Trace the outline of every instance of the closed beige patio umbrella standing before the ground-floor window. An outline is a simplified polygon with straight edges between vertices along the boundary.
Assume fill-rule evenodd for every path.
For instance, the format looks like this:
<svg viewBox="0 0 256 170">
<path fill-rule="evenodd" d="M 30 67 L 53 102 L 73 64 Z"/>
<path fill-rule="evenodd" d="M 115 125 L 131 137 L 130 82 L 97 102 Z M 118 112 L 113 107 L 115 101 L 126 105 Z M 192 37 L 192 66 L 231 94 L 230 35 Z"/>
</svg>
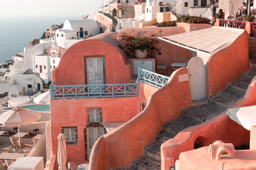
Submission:
<svg viewBox="0 0 256 170">
<path fill-rule="evenodd" d="M 58 147 L 58 163 L 59 163 L 59 170 L 67 170 L 66 168 L 66 161 L 67 161 L 67 154 L 66 154 L 66 136 L 63 133 L 58 135 L 59 139 L 59 147 Z"/>
</svg>

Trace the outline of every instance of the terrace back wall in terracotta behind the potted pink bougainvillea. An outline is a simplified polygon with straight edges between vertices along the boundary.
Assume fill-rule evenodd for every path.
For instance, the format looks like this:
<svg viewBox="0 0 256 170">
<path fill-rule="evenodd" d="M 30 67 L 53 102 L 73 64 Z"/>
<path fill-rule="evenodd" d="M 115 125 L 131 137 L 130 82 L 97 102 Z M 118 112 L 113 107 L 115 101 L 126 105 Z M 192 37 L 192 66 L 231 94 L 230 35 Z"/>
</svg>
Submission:
<svg viewBox="0 0 256 170">
<path fill-rule="evenodd" d="M 157 37 L 165 37 L 165 36 L 171 36 L 175 34 L 181 34 L 181 33 L 186 33 L 186 30 L 183 27 L 149 27 L 149 28 L 135 28 L 135 31 L 131 33 L 131 35 L 137 35 L 138 33 L 143 33 L 145 35 L 151 35 L 151 34 L 156 34 L 159 32 L 159 30 L 162 30 L 160 34 L 158 34 L 154 39 L 158 40 L 159 43 L 156 44 L 155 46 L 158 48 L 161 48 L 161 55 L 158 55 L 158 53 L 155 53 L 155 61 L 156 65 L 167 65 L 167 70 L 170 73 L 173 70 L 173 67 L 171 66 L 172 63 L 174 63 L 177 59 L 179 58 L 186 58 L 187 60 L 190 60 L 192 58 L 192 51 L 179 47 L 177 45 L 159 40 Z M 123 32 L 125 33 L 130 33 L 134 29 L 122 29 L 120 30 L 118 34 L 118 39 L 117 41 L 120 42 L 120 44 L 124 47 L 125 46 L 125 41 L 121 39 L 121 36 Z M 146 31 L 145 31 L 146 30 Z M 163 45 L 166 45 L 163 46 Z M 149 53 L 151 54 L 151 52 Z M 131 56 L 134 56 L 132 54 Z M 165 73 L 165 70 L 159 70 L 159 72 Z"/>
</svg>

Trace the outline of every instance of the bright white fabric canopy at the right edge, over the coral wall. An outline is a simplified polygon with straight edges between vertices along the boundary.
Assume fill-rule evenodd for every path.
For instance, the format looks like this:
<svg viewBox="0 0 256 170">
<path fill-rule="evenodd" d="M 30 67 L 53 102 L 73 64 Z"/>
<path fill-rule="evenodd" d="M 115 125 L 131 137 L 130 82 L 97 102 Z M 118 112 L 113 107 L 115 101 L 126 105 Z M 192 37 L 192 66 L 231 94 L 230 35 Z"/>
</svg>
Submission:
<svg viewBox="0 0 256 170">
<path fill-rule="evenodd" d="M 226 114 L 247 130 L 251 130 L 251 126 L 256 125 L 256 105 L 228 109 Z"/>
</svg>

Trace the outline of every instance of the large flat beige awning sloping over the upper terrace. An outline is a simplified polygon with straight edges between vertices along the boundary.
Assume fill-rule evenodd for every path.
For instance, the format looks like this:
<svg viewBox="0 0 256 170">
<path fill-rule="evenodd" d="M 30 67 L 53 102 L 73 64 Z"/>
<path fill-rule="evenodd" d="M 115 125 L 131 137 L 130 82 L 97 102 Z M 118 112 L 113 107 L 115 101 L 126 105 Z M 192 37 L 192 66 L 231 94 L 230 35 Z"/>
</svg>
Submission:
<svg viewBox="0 0 256 170">
<path fill-rule="evenodd" d="M 210 27 L 162 38 L 158 37 L 158 39 L 199 53 L 211 55 L 216 50 L 228 46 L 244 31 L 243 29 L 227 27 Z"/>
</svg>

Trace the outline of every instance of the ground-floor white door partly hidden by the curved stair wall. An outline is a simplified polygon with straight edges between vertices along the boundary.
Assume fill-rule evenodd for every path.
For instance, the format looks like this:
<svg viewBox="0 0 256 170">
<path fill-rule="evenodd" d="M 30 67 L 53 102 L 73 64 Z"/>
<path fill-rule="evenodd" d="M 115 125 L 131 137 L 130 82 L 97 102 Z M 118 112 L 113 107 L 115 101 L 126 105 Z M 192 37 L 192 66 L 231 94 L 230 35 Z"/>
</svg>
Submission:
<svg viewBox="0 0 256 170">
<path fill-rule="evenodd" d="M 88 160 L 89 160 L 94 143 L 100 136 L 104 135 L 104 128 L 86 128 L 86 133 L 87 133 L 87 153 L 88 153 Z"/>
</svg>

